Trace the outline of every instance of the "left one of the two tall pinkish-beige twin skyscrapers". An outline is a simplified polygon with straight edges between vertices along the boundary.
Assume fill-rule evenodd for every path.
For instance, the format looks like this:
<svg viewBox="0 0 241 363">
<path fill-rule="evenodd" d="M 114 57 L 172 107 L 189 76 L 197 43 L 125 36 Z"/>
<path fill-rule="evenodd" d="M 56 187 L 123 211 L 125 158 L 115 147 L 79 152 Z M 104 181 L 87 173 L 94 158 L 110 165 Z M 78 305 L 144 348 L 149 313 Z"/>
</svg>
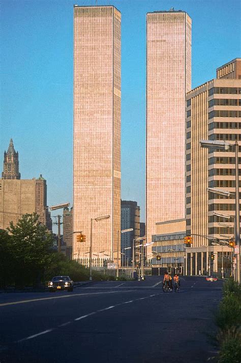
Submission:
<svg viewBox="0 0 241 363">
<path fill-rule="evenodd" d="M 74 231 L 73 258 L 113 257 L 120 245 L 120 23 L 113 6 L 74 6 Z M 119 248 L 120 250 L 120 248 Z M 117 254 L 114 254 L 114 258 Z M 120 258 L 119 258 L 120 261 Z"/>
</svg>

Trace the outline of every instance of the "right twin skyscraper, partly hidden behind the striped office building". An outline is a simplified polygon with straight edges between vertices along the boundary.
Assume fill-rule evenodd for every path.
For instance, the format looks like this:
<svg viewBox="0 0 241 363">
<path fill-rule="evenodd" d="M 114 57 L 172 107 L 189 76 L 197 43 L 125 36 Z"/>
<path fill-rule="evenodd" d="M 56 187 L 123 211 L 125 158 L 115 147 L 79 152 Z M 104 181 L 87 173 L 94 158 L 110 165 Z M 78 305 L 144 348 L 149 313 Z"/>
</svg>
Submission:
<svg viewBox="0 0 241 363">
<path fill-rule="evenodd" d="M 191 90 L 191 27 L 191 18 L 183 11 L 146 16 L 147 242 L 156 235 L 156 222 L 185 217 L 185 96 Z"/>
</svg>

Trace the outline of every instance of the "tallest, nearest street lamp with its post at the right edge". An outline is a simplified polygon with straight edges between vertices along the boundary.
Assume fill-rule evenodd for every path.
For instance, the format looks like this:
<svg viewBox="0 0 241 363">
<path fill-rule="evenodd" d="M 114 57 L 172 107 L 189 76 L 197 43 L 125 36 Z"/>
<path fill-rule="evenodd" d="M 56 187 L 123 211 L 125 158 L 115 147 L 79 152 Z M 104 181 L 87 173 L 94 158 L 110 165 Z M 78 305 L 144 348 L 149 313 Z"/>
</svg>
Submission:
<svg viewBox="0 0 241 363">
<path fill-rule="evenodd" d="M 200 140 L 201 147 L 216 150 L 229 150 L 230 144 L 222 141 Z M 238 177 L 238 142 L 235 141 L 235 245 L 238 248 L 236 256 L 237 282 L 240 283 L 240 215 L 239 215 L 239 177 Z"/>
</svg>

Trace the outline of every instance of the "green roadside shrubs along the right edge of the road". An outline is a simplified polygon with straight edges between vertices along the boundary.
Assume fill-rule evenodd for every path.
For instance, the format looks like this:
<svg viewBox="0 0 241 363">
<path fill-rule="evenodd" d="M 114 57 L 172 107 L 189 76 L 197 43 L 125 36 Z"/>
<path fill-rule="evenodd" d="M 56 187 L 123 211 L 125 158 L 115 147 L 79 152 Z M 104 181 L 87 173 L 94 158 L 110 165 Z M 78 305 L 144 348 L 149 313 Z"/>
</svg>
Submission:
<svg viewBox="0 0 241 363">
<path fill-rule="evenodd" d="M 241 362 L 241 286 L 230 278 L 224 283 L 223 299 L 215 316 L 219 328 L 218 363 Z"/>
</svg>

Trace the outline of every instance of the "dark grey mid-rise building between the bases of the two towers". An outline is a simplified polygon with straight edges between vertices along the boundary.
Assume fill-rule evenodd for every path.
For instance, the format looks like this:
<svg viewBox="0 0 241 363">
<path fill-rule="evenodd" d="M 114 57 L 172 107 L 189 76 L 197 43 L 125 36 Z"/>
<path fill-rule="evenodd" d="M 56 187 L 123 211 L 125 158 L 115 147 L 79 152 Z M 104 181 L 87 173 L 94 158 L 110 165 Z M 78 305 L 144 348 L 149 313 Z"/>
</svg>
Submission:
<svg viewBox="0 0 241 363">
<path fill-rule="evenodd" d="M 131 265 L 132 254 L 133 254 L 133 239 L 134 246 L 136 244 L 136 238 L 140 237 L 140 207 L 137 205 L 137 202 L 133 201 L 122 201 L 122 219 L 121 226 L 122 230 L 126 230 L 129 228 L 133 228 L 132 232 L 122 233 L 121 237 L 121 249 L 122 253 L 122 261 L 124 266 Z M 129 249 L 125 249 L 131 247 Z M 137 256 L 136 256 L 137 257 Z"/>
</svg>

